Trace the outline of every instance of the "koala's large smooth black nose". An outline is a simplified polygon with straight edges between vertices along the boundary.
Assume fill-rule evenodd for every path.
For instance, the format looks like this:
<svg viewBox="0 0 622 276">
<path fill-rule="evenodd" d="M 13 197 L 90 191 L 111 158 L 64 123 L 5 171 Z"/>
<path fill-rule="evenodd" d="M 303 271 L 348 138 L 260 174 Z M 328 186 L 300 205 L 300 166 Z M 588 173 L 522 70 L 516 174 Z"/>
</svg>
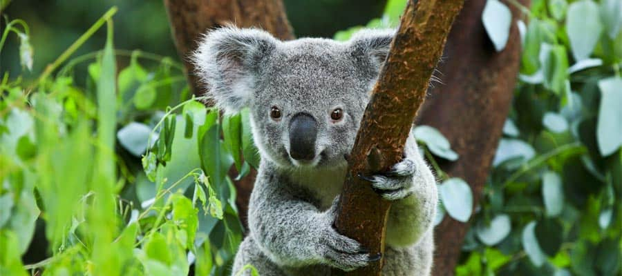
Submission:
<svg viewBox="0 0 622 276">
<path fill-rule="evenodd" d="M 310 161 L 315 157 L 317 122 L 307 113 L 297 113 L 290 121 L 290 156 Z"/>
</svg>

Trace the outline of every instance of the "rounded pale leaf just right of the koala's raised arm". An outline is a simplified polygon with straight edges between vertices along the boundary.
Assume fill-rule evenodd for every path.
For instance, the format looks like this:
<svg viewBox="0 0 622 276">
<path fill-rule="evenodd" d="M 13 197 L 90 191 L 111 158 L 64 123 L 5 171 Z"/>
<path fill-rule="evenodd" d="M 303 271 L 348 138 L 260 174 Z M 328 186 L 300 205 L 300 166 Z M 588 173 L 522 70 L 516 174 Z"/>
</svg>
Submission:
<svg viewBox="0 0 622 276">
<path fill-rule="evenodd" d="M 469 184 L 460 178 L 450 178 L 443 181 L 438 190 L 449 216 L 458 221 L 469 221 L 473 211 L 473 193 Z"/>
</svg>

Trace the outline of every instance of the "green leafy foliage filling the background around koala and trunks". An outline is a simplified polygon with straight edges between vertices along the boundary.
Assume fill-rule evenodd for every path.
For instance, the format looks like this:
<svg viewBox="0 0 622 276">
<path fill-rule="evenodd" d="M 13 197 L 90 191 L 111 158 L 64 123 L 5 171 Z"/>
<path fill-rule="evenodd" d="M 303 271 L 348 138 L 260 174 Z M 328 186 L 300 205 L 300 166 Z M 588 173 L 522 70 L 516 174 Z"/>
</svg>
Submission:
<svg viewBox="0 0 622 276">
<path fill-rule="evenodd" d="M 395 24 L 405 3 L 320 2 L 285 1 L 296 34 L 347 39 Z M 489 0 L 482 14 L 497 50 L 508 5 Z M 520 83 L 474 214 L 469 186 L 435 166 L 437 221 L 473 219 L 456 273 L 620 275 L 622 3 L 522 9 Z M 245 112 L 221 117 L 189 95 L 161 1 L 15 1 L 3 13 L 0 275 L 227 275 L 243 237 L 227 172 L 244 177 L 258 157 Z M 317 14 L 327 23 L 308 23 Z M 433 165 L 460 158 L 433 128 L 417 139 Z"/>
</svg>

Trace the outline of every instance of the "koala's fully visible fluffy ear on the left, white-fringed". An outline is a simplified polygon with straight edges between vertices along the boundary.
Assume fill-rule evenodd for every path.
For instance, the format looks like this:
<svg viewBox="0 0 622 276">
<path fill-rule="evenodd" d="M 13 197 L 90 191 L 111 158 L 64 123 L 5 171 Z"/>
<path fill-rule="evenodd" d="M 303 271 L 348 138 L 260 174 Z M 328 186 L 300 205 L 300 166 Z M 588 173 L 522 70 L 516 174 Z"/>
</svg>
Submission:
<svg viewBox="0 0 622 276">
<path fill-rule="evenodd" d="M 249 105 L 261 61 L 277 43 L 263 30 L 231 26 L 203 36 L 192 61 L 216 106 L 237 112 Z"/>
</svg>

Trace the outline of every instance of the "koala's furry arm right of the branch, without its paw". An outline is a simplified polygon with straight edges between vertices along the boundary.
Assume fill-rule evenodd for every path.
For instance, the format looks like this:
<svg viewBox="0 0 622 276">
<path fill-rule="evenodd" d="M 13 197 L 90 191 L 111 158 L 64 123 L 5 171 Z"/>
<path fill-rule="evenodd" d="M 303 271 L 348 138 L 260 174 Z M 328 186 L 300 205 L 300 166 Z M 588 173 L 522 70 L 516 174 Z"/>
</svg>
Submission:
<svg viewBox="0 0 622 276">
<path fill-rule="evenodd" d="M 435 177 L 420 155 L 412 131 L 406 141 L 404 155 L 415 164 L 415 173 L 411 195 L 391 205 L 386 244 L 393 248 L 415 244 L 432 230 L 438 202 Z"/>
</svg>

